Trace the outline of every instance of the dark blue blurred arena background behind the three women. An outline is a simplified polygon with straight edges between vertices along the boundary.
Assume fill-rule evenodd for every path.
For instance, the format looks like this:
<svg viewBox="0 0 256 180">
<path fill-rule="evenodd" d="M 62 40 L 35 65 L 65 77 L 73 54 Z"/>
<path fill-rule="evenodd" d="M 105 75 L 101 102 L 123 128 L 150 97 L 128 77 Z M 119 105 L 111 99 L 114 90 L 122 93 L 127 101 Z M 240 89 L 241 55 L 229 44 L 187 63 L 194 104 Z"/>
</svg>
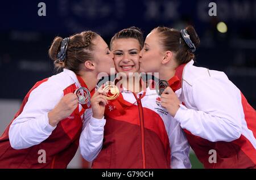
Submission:
<svg viewBox="0 0 256 180">
<path fill-rule="evenodd" d="M 40 2 L 46 16 L 38 15 Z M 217 16 L 209 16 L 210 2 L 216 3 Z M 48 58 L 53 38 L 85 30 L 109 42 L 130 26 L 146 37 L 158 25 L 194 25 L 201 39 L 196 65 L 224 71 L 256 108 L 256 1 L 1 1 L 0 15 L 0 134 L 32 85 L 55 74 Z M 220 22 L 225 33 L 217 29 Z"/>
</svg>

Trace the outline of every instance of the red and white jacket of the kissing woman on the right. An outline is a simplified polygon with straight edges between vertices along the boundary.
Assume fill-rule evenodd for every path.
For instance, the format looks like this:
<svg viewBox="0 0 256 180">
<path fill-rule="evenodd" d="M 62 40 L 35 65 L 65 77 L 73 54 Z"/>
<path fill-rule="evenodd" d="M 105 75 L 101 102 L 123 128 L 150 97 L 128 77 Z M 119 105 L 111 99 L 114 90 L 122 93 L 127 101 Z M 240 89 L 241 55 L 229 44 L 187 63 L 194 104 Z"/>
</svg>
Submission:
<svg viewBox="0 0 256 180">
<path fill-rule="evenodd" d="M 179 66 L 176 76 L 182 83 L 175 93 L 184 105 L 174 118 L 204 167 L 255 168 L 256 112 L 236 85 L 224 72 L 193 66 L 193 60 Z"/>
</svg>

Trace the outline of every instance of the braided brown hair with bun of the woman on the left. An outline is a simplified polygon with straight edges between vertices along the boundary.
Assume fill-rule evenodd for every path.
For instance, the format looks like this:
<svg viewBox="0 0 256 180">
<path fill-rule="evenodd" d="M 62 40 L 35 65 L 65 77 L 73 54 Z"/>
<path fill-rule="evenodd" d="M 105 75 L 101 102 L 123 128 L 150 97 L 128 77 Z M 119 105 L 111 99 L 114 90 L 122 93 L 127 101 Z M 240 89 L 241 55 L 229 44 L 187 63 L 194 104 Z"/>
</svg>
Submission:
<svg viewBox="0 0 256 180">
<path fill-rule="evenodd" d="M 92 40 L 96 36 L 98 36 L 98 34 L 92 31 L 84 31 L 70 36 L 64 61 L 60 61 L 60 59 L 57 58 L 63 38 L 59 36 L 55 37 L 48 52 L 49 57 L 54 61 L 55 68 L 57 68 L 57 70 L 67 68 L 78 74 L 80 70 L 79 65 L 93 58 L 92 50 L 94 44 Z"/>
</svg>

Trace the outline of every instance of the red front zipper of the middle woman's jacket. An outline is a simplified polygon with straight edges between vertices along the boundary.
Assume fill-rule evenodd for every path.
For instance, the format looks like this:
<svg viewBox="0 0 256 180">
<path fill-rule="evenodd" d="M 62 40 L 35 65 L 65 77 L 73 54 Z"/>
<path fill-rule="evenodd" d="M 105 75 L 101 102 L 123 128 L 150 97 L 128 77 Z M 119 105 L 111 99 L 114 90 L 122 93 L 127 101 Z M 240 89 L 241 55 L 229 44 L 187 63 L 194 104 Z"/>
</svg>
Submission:
<svg viewBox="0 0 256 180">
<path fill-rule="evenodd" d="M 134 96 L 138 102 L 139 109 L 139 122 L 141 124 L 141 146 L 142 146 L 142 165 L 143 169 L 146 169 L 146 156 L 145 156 L 145 140 L 144 140 L 144 117 L 143 117 L 143 108 L 141 104 L 141 95 L 139 95 L 139 99 L 134 93 Z"/>
</svg>

